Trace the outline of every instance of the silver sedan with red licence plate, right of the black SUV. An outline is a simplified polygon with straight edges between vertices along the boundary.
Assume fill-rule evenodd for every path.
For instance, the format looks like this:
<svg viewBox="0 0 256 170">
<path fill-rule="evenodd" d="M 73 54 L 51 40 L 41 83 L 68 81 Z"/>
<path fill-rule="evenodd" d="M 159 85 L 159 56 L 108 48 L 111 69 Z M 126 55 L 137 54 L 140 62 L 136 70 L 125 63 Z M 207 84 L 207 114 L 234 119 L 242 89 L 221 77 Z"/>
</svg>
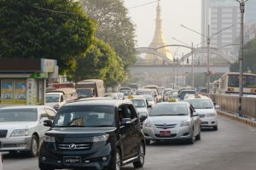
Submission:
<svg viewBox="0 0 256 170">
<path fill-rule="evenodd" d="M 201 139 L 201 120 L 188 102 L 163 102 L 154 105 L 143 123 L 146 144 L 150 140 L 182 139 L 194 144 Z"/>
</svg>

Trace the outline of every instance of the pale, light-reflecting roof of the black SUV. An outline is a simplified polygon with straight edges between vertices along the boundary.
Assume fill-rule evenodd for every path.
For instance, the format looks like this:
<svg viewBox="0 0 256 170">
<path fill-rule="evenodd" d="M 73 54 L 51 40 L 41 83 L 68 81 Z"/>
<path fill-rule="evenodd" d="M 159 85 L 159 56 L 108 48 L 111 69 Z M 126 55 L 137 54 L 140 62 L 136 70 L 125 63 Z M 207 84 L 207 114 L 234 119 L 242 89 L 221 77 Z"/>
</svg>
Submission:
<svg viewBox="0 0 256 170">
<path fill-rule="evenodd" d="M 122 104 L 132 104 L 131 100 L 129 99 L 86 99 L 81 101 L 75 101 L 72 103 L 68 103 L 64 106 L 76 106 L 76 105 L 113 105 L 118 106 Z"/>
</svg>

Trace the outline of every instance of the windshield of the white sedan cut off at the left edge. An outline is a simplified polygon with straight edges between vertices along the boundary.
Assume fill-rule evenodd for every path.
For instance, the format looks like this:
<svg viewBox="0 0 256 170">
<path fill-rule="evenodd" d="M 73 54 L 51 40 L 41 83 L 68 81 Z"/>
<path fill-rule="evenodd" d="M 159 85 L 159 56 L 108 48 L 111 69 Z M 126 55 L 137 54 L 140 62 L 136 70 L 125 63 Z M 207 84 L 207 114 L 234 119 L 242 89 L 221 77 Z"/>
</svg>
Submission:
<svg viewBox="0 0 256 170">
<path fill-rule="evenodd" d="M 3 109 L 0 110 L 0 122 L 36 122 L 38 111 L 32 109 Z"/>
</svg>

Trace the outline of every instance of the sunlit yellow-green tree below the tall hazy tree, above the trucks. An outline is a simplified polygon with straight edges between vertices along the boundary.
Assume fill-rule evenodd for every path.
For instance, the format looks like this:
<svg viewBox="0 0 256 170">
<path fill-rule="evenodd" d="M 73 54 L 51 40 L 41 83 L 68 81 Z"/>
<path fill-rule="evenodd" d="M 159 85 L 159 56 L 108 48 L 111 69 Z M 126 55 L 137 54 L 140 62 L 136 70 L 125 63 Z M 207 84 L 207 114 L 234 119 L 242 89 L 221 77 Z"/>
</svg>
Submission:
<svg viewBox="0 0 256 170">
<path fill-rule="evenodd" d="M 87 53 L 76 58 L 76 69 L 70 75 L 74 82 L 97 78 L 111 87 L 123 81 L 124 68 L 113 48 L 95 38 Z"/>
</svg>

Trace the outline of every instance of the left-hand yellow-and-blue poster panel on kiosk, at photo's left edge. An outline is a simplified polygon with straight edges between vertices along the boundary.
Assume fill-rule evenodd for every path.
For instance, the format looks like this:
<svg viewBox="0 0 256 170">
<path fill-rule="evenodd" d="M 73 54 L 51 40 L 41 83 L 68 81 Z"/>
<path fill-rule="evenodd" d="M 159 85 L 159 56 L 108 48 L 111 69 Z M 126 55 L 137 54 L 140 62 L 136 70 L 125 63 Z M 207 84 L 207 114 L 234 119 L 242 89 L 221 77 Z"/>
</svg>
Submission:
<svg viewBox="0 0 256 170">
<path fill-rule="evenodd" d="M 1 103 L 13 104 L 13 102 L 14 102 L 14 83 L 12 80 L 2 80 Z"/>
</svg>

